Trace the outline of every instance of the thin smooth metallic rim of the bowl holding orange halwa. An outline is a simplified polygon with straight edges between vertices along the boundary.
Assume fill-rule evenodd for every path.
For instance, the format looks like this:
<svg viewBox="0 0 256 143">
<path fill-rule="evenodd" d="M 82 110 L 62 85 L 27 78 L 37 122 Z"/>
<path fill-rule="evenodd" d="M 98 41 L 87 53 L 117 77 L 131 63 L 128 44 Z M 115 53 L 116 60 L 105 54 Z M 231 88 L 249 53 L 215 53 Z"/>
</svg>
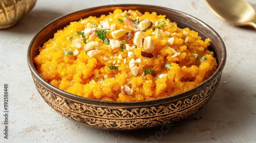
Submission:
<svg viewBox="0 0 256 143">
<path fill-rule="evenodd" d="M 154 99 L 154 100 L 146 100 L 146 101 L 134 101 L 134 102 L 117 102 L 117 101 L 103 101 L 103 100 L 97 100 L 97 99 L 89 99 L 89 98 L 84 98 L 84 97 L 79 97 L 76 96 L 75 94 L 71 94 L 68 93 L 66 91 L 63 91 L 57 87 L 54 87 L 53 85 L 51 85 L 50 83 L 48 83 L 45 79 L 43 79 L 37 72 L 34 64 L 33 64 L 33 60 L 31 59 L 31 50 L 32 50 L 32 45 L 34 40 L 37 38 L 37 36 L 47 27 L 54 25 L 54 23 L 62 18 L 67 18 L 70 15 L 79 13 L 79 12 L 84 12 L 84 11 L 91 11 L 91 10 L 96 10 L 96 9 L 101 9 L 101 8 L 119 8 L 119 7 L 139 7 L 139 8 L 148 8 L 148 9 L 162 9 L 162 10 L 166 10 L 169 12 L 173 12 L 173 13 L 177 13 L 180 14 L 181 16 L 184 16 L 184 18 L 186 20 L 191 20 L 194 22 L 197 22 L 197 24 L 199 26 L 201 26 L 201 28 L 205 29 L 206 31 L 210 32 L 210 34 L 214 34 L 214 36 L 217 38 L 219 45 L 221 46 L 221 56 L 218 57 L 220 58 L 220 62 L 218 62 L 218 67 L 217 70 L 215 71 L 215 73 L 208 78 L 206 81 L 204 81 L 203 83 L 201 83 L 199 86 L 196 86 L 192 89 L 189 89 L 185 92 L 176 94 L 174 96 L 170 96 L 170 97 L 165 97 L 165 98 L 160 98 L 160 99 Z M 190 21 L 188 21 L 189 23 Z M 189 27 L 189 26 L 188 26 Z M 199 31 L 197 31 L 199 32 Z M 200 35 L 199 35 L 200 36 Z M 215 49 L 215 48 L 214 48 Z M 216 50 L 216 49 L 215 49 Z M 215 55 L 217 56 L 217 55 Z M 45 86 L 47 86 L 48 88 L 50 88 L 50 90 L 58 92 L 61 94 L 61 96 L 69 98 L 69 99 L 73 99 L 75 101 L 79 101 L 81 103 L 93 103 L 93 104 L 104 104 L 104 105 L 125 105 L 125 106 L 140 106 L 140 105 L 153 105 L 153 104 L 159 104 L 159 103 L 168 103 L 170 101 L 174 101 L 180 98 L 186 98 L 191 96 L 191 94 L 195 93 L 195 91 L 198 91 L 198 89 L 204 89 L 205 85 L 210 84 L 211 82 L 214 82 L 216 78 L 220 77 L 223 71 L 223 68 L 225 66 L 225 62 L 226 62 L 226 47 L 224 44 L 224 41 L 222 40 L 222 38 L 220 37 L 220 35 L 214 30 L 212 29 L 210 26 L 208 26 L 205 22 L 203 22 L 202 20 L 188 15 L 184 12 L 178 11 L 178 10 L 174 10 L 174 9 L 170 9 L 170 8 L 166 8 L 166 7 L 160 7 L 160 6 L 153 6 L 153 5 L 144 5 L 144 4 L 117 4 L 117 5 L 105 5 L 105 6 L 98 6 L 98 7 L 92 7 L 92 8 L 88 8 L 88 9 L 83 9 L 83 10 L 79 10 L 79 11 L 75 11 L 63 16 L 60 16 L 54 20 L 52 20 L 51 22 L 49 22 L 46 26 L 44 26 L 41 30 L 39 30 L 35 36 L 32 38 L 28 50 L 27 50 L 27 62 L 28 62 L 28 66 L 29 69 L 31 71 L 32 76 L 36 77 L 42 84 L 44 84 Z"/>
</svg>

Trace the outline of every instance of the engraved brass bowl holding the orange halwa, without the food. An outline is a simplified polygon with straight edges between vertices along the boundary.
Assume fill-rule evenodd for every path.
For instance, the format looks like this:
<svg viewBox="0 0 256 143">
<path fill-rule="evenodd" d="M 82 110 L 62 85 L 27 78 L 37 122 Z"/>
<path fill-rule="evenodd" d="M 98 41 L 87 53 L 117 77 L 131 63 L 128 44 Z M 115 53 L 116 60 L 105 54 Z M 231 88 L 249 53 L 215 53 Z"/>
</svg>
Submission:
<svg viewBox="0 0 256 143">
<path fill-rule="evenodd" d="M 109 14 L 117 8 L 164 14 L 171 21 L 176 21 L 179 27 L 188 27 L 198 31 L 203 39 L 210 38 L 209 49 L 214 51 L 218 63 L 216 72 L 201 85 L 186 92 L 172 97 L 139 102 L 109 102 L 79 97 L 52 86 L 37 73 L 34 58 L 39 53 L 38 46 L 42 46 L 52 38 L 57 30 L 66 27 L 71 21 L 91 15 Z M 197 113 L 204 107 L 220 82 L 226 61 L 226 49 L 216 31 L 195 17 L 164 7 L 126 4 L 85 9 L 55 19 L 34 36 L 29 45 L 27 60 L 41 97 L 60 114 L 90 127 L 107 130 L 134 130 L 177 122 Z"/>
</svg>

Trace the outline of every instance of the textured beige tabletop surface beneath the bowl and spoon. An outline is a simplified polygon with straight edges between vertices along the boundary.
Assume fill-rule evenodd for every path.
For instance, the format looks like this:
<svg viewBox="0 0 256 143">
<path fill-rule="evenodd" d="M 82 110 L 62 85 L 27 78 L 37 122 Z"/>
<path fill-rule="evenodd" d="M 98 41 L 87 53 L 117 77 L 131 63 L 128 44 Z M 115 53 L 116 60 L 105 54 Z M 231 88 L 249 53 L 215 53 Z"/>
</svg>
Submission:
<svg viewBox="0 0 256 143">
<path fill-rule="evenodd" d="M 247 1 L 256 9 L 254 0 Z M 50 108 L 37 92 L 27 66 L 32 37 L 51 20 L 81 9 L 110 4 L 150 4 L 191 14 L 214 28 L 227 47 L 221 83 L 196 115 L 173 125 L 133 132 L 102 131 L 75 124 Z M 9 139 L 0 142 L 255 142 L 256 31 L 220 20 L 203 0 L 37 1 L 13 28 L 0 30 L 0 112 L 9 84 Z M 201 118 L 202 117 L 202 118 Z M 199 118 L 196 120 L 195 118 Z M 4 130 L 0 115 L 0 130 Z"/>
</svg>

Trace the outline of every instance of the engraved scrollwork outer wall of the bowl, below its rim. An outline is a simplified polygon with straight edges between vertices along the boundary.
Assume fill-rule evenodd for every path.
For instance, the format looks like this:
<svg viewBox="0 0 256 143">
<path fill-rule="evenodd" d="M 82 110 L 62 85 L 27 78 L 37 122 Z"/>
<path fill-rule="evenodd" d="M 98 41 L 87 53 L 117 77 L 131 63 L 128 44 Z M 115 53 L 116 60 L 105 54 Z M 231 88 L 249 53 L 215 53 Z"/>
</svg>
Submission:
<svg viewBox="0 0 256 143">
<path fill-rule="evenodd" d="M 50 91 L 35 77 L 33 80 L 47 104 L 70 120 L 101 129 L 132 130 L 177 122 L 197 113 L 214 94 L 220 77 L 210 86 L 189 98 L 140 108 L 81 103 Z"/>
</svg>

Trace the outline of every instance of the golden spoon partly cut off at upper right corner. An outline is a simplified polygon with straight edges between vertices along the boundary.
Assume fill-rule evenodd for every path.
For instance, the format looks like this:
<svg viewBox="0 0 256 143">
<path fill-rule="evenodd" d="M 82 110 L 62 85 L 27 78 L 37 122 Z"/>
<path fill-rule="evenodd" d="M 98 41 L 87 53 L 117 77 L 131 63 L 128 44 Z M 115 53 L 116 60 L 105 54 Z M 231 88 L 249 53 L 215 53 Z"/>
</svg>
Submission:
<svg viewBox="0 0 256 143">
<path fill-rule="evenodd" d="M 222 20 L 234 26 L 256 29 L 256 12 L 243 0 L 205 0 L 209 8 Z"/>
</svg>

